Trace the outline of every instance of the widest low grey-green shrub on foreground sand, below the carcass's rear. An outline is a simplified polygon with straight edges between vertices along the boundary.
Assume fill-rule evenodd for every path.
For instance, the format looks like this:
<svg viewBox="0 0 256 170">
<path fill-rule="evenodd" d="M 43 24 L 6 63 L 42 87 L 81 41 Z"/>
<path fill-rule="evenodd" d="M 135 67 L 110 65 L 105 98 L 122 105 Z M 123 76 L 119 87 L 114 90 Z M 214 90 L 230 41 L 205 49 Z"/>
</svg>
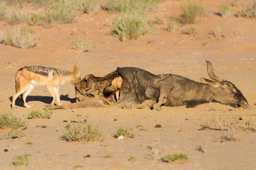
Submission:
<svg viewBox="0 0 256 170">
<path fill-rule="evenodd" d="M 103 141 L 105 136 L 102 135 L 98 126 L 93 127 L 83 123 L 82 125 L 76 125 L 75 123 L 67 125 L 67 132 L 62 136 L 63 139 L 73 142 L 87 142 L 87 141 Z"/>
</svg>

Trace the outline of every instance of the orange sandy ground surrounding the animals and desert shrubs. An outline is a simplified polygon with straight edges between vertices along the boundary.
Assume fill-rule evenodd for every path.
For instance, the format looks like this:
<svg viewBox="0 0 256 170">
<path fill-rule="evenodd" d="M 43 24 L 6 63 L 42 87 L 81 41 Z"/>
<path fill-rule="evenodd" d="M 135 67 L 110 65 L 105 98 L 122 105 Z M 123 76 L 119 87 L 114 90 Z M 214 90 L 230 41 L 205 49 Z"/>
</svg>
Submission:
<svg viewBox="0 0 256 170">
<path fill-rule="evenodd" d="M 97 14 L 81 14 L 77 22 L 63 24 L 55 28 L 35 26 L 40 40 L 34 48 L 20 49 L 0 44 L 0 110 L 12 111 L 15 116 L 26 119 L 32 110 L 42 110 L 50 103 L 52 96 L 46 87 L 36 87 L 27 97 L 33 108 L 18 107 L 11 109 L 10 97 L 15 94 L 15 73 L 25 65 L 41 65 L 72 70 L 73 65 L 81 66 L 81 77 L 87 74 L 104 76 L 116 67 L 131 66 L 143 68 L 153 74 L 179 74 L 195 81 L 200 77 L 208 78 L 206 63 L 212 62 L 215 74 L 233 82 L 244 94 L 250 108 L 229 111 L 230 106 L 218 103 L 199 105 L 196 108 L 163 107 L 161 111 L 150 109 L 122 110 L 121 108 L 81 108 L 72 112 L 55 110 L 51 119 L 29 119 L 29 125 L 19 139 L 0 140 L 0 169 L 15 169 L 12 158 L 16 155 L 30 154 L 29 164 L 19 169 L 74 169 L 82 165 L 84 170 L 112 169 L 151 169 L 151 170 L 252 170 L 256 169 L 256 133 L 246 128 L 246 122 L 256 126 L 256 22 L 237 18 L 233 14 L 246 6 L 244 1 L 227 17 L 220 17 L 218 6 L 225 1 L 195 1 L 203 3 L 209 10 L 208 17 L 198 18 L 195 27 L 198 34 L 182 35 L 168 32 L 164 24 L 155 25 L 158 34 L 140 36 L 138 40 L 120 42 L 110 34 L 110 23 L 116 16 L 100 10 Z M 231 2 L 231 1 L 229 1 Z M 186 1 L 184 1 L 186 3 Z M 244 4 L 244 6 L 242 6 Z M 150 20 L 158 16 L 164 22 L 180 14 L 180 1 L 166 0 L 151 12 Z M 222 27 L 218 39 L 209 33 L 215 26 Z M 21 26 L 21 25 L 19 25 Z M 9 31 L 16 26 L 0 22 L 0 29 Z M 17 26 L 18 27 L 18 26 Z M 180 29 L 190 27 L 183 26 Z M 71 35 L 76 31 L 77 35 Z M 92 43 L 89 52 L 83 53 L 71 49 L 71 41 L 77 37 L 87 37 Z M 72 85 L 60 88 L 62 104 L 76 102 Z M 209 111 L 210 109 L 215 111 Z M 81 115 L 81 117 L 77 117 Z M 235 131 L 239 141 L 220 142 L 221 136 L 228 135 L 223 130 L 199 130 L 200 125 L 218 128 L 212 117 L 218 116 L 222 125 L 235 122 L 239 130 Z M 113 119 L 117 121 L 113 121 Z M 241 120 L 239 120 L 241 118 Z M 66 142 L 60 139 L 67 125 L 63 120 L 83 121 L 98 125 L 106 136 L 103 142 Z M 254 125 L 253 125 L 254 123 Z M 160 124 L 164 127 L 155 128 Z M 46 125 L 47 128 L 36 128 Z M 143 125 L 148 131 L 139 131 L 137 125 Z M 117 140 L 113 138 L 119 126 L 132 127 L 133 139 Z M 0 130 L 4 136 L 9 130 Z M 187 154 L 186 163 L 166 163 L 149 159 L 147 146 L 159 141 L 165 154 Z M 32 145 L 26 145 L 32 142 Z M 205 153 L 195 150 L 206 143 Z M 8 152 L 3 152 L 8 149 Z M 40 153 L 39 153 L 40 151 Z M 90 158 L 84 158 L 89 154 Z M 106 155 L 111 158 L 106 159 Z M 128 161 L 134 156 L 136 161 Z"/>
</svg>

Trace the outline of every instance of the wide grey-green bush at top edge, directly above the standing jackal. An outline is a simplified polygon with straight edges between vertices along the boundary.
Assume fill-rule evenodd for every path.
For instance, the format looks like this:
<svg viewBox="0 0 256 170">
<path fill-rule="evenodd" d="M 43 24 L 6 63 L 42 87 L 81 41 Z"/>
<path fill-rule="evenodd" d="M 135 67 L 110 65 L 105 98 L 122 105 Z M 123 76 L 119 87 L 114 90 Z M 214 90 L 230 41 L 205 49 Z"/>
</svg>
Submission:
<svg viewBox="0 0 256 170">
<path fill-rule="evenodd" d="M 78 6 L 72 0 L 52 0 L 45 8 L 46 22 L 49 24 L 73 23 Z"/>
</svg>

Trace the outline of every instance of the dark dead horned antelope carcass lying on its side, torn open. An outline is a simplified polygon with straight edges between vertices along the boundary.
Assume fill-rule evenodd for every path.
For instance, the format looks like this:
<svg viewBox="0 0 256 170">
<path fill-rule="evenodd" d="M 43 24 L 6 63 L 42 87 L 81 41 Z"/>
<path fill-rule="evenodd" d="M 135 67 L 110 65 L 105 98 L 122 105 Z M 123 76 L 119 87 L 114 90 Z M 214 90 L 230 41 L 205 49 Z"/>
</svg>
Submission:
<svg viewBox="0 0 256 170">
<path fill-rule="evenodd" d="M 161 106 L 183 106 L 193 108 L 208 102 L 218 102 L 234 108 L 248 108 L 248 103 L 241 91 L 232 83 L 218 78 L 207 62 L 207 72 L 212 80 L 201 78 L 195 82 L 175 74 L 154 75 L 140 68 L 117 68 L 105 77 L 94 77 L 89 74 L 81 81 L 81 90 L 76 89 L 79 102 L 69 105 L 47 105 L 49 109 L 88 108 L 88 107 L 121 107 L 121 108 L 154 108 L 160 111 Z M 113 96 L 105 95 L 105 89 L 111 86 L 116 78 L 122 78 L 119 89 L 119 101 Z"/>
</svg>

